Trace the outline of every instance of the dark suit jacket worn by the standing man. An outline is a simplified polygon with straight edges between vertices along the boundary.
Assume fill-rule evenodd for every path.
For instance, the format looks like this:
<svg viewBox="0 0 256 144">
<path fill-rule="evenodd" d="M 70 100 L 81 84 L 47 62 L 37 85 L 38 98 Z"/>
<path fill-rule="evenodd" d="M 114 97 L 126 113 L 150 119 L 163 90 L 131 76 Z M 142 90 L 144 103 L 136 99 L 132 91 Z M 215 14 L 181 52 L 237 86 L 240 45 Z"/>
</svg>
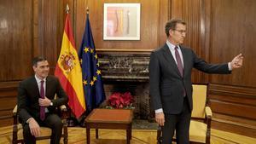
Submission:
<svg viewBox="0 0 256 144">
<path fill-rule="evenodd" d="M 180 46 L 183 53 L 183 78 L 170 49 L 165 44 L 150 55 L 149 84 L 150 97 L 154 110 L 163 108 L 169 114 L 177 114 L 183 108 L 183 89 L 192 111 L 192 68 L 207 73 L 230 73 L 228 64 L 212 65 L 198 58 L 192 49 Z"/>
</svg>

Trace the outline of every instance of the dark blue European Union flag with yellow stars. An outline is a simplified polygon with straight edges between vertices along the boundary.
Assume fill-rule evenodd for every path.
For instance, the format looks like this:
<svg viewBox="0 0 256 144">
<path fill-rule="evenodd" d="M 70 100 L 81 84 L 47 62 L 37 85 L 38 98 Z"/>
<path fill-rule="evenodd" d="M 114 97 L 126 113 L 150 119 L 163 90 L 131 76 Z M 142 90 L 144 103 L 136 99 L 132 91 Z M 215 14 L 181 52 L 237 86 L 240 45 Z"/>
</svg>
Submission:
<svg viewBox="0 0 256 144">
<path fill-rule="evenodd" d="M 90 29 L 89 14 L 86 17 L 83 41 L 79 49 L 79 59 L 82 66 L 84 97 L 87 113 L 106 99 L 102 84 L 102 72 L 99 69 L 98 57 Z"/>
</svg>

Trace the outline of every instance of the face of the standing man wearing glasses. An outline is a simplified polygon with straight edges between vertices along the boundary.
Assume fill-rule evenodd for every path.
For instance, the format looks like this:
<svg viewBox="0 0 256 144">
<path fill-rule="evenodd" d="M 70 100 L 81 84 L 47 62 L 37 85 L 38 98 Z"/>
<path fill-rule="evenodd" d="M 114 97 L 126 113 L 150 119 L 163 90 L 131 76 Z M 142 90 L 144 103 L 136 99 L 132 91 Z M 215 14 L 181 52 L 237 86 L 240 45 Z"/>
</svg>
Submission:
<svg viewBox="0 0 256 144">
<path fill-rule="evenodd" d="M 171 43 L 175 45 L 182 44 L 184 38 L 186 37 L 186 26 L 177 23 L 175 30 L 170 30 L 169 33 Z"/>
</svg>

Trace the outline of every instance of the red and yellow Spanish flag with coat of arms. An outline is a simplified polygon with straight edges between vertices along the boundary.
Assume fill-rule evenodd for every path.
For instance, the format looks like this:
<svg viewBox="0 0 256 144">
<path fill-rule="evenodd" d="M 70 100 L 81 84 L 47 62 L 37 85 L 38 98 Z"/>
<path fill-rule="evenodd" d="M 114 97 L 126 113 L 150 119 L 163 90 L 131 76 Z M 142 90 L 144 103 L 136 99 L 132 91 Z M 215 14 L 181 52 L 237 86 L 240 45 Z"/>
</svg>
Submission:
<svg viewBox="0 0 256 144">
<path fill-rule="evenodd" d="M 77 49 L 75 49 L 69 14 L 67 14 L 65 22 L 61 53 L 55 66 L 55 76 L 60 79 L 61 86 L 69 97 L 68 106 L 71 108 L 76 118 L 79 118 L 86 108 L 82 69 L 79 63 Z"/>
</svg>

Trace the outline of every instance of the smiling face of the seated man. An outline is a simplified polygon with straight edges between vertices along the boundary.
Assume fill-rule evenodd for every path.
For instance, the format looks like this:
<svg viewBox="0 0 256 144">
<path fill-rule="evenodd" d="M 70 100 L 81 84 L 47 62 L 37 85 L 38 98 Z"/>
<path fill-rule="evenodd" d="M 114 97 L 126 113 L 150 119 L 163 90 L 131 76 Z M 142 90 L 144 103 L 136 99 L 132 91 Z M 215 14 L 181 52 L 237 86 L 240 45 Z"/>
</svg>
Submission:
<svg viewBox="0 0 256 144">
<path fill-rule="evenodd" d="M 47 60 L 38 61 L 37 66 L 33 66 L 33 70 L 38 78 L 44 79 L 49 74 L 49 63 Z"/>
</svg>

